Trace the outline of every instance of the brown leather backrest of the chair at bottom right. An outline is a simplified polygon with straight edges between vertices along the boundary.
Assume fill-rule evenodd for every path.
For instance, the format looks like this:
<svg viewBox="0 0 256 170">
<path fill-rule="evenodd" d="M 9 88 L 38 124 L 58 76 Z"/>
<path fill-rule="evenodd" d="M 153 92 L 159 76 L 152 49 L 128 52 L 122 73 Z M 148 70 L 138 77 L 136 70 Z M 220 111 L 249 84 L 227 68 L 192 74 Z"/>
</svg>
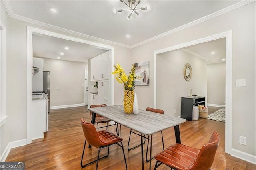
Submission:
<svg viewBox="0 0 256 170">
<path fill-rule="evenodd" d="M 209 170 L 211 168 L 219 142 L 218 133 L 215 131 L 208 144 L 202 146 L 192 170 Z"/>
</svg>

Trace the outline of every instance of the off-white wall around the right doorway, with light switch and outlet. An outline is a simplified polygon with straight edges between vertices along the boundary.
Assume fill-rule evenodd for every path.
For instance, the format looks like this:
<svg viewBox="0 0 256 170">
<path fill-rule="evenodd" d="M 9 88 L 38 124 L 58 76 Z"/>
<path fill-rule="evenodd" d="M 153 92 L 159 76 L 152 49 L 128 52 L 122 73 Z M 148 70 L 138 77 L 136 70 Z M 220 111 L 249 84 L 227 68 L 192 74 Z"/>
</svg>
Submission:
<svg viewBox="0 0 256 170">
<path fill-rule="evenodd" d="M 150 61 L 150 73 L 153 73 L 154 51 L 229 30 L 232 30 L 232 148 L 255 156 L 255 2 L 135 47 L 131 60 L 132 63 Z M 151 82 L 153 79 L 150 74 Z M 235 87 L 236 79 L 246 79 L 246 87 Z M 153 107 L 152 83 L 147 87 L 136 86 L 135 92 L 140 109 Z M 247 137 L 246 146 L 239 144 L 239 136 Z"/>
</svg>

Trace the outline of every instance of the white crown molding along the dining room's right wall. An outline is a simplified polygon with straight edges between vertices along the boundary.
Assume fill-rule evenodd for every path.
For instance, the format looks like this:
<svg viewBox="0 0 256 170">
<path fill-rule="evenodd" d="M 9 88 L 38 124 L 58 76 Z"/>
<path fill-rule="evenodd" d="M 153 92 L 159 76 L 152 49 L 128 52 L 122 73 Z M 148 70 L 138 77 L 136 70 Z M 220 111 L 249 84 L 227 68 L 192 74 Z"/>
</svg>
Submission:
<svg viewBox="0 0 256 170">
<path fill-rule="evenodd" d="M 157 40 L 159 38 L 162 38 L 162 37 L 168 36 L 170 34 L 173 34 L 175 32 L 178 32 L 180 30 L 184 30 L 186 28 L 189 28 L 189 27 L 194 26 L 196 24 L 199 24 L 201 22 L 205 22 L 207 20 L 210 20 L 210 19 L 215 18 L 217 16 L 220 16 L 222 14 L 226 14 L 226 13 L 228 13 L 230 11 L 233 11 L 233 10 L 236 10 L 236 9 L 241 8 L 243 6 L 246 6 L 247 4 L 250 4 L 252 2 L 255 2 L 255 0 L 242 0 L 242 1 L 238 2 L 238 3 L 236 3 L 236 4 L 233 4 L 232 6 L 228 6 L 228 7 L 224 8 L 224 9 L 222 9 L 222 10 L 216 11 L 216 12 L 214 12 L 212 14 L 209 14 L 207 16 L 199 18 L 198 20 L 194 20 L 192 22 L 189 22 L 188 24 L 185 24 L 183 26 L 174 28 L 174 29 L 172 29 L 170 31 L 164 32 L 162 34 L 159 34 L 158 36 L 154 36 L 152 38 L 149 38 L 148 40 L 142 41 L 140 43 L 136 43 L 136 44 L 132 45 L 131 48 L 138 47 L 138 46 L 143 45 L 145 43 L 152 42 L 152 41 Z"/>
</svg>

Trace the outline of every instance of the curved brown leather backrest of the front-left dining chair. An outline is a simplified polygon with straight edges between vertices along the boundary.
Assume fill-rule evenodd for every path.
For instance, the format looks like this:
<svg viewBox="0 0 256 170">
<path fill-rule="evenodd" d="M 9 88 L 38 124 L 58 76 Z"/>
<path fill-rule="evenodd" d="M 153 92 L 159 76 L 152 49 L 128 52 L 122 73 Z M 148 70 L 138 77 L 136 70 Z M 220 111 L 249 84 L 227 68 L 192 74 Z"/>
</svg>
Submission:
<svg viewBox="0 0 256 170">
<path fill-rule="evenodd" d="M 81 124 L 84 131 L 84 137 L 90 145 L 96 148 L 106 145 L 100 140 L 96 128 L 92 123 L 85 123 L 84 118 L 81 118 Z"/>
</svg>

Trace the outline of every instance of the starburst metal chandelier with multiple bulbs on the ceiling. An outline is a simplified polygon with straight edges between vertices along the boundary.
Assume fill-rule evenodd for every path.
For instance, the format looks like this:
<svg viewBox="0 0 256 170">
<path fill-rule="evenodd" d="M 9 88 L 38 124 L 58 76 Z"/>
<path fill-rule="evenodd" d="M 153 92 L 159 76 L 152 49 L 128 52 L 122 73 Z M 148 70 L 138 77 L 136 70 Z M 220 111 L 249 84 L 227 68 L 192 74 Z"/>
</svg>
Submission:
<svg viewBox="0 0 256 170">
<path fill-rule="evenodd" d="M 128 16 L 127 19 L 130 20 L 132 13 L 134 12 L 137 16 L 140 15 L 140 13 L 137 10 L 150 10 L 150 6 L 143 6 L 140 8 L 137 8 L 138 4 L 140 4 L 141 0 L 128 0 L 128 3 L 124 2 L 124 0 L 120 0 L 122 3 L 126 4 L 126 6 L 129 7 L 129 9 L 114 9 L 113 12 L 116 14 L 117 12 L 122 12 L 122 11 L 132 11 Z"/>
</svg>

